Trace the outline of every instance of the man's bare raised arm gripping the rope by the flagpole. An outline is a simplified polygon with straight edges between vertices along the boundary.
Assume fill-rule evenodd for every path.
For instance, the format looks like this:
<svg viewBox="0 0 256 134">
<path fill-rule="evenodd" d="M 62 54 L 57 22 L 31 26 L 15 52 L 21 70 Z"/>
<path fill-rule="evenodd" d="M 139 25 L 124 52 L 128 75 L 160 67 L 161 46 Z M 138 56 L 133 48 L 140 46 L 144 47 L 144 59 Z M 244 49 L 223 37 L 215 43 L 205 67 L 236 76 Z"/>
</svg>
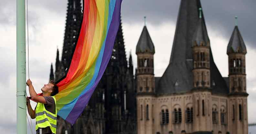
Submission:
<svg viewBox="0 0 256 134">
<path fill-rule="evenodd" d="M 47 102 L 43 96 L 37 95 L 30 79 L 27 80 L 27 85 L 28 85 L 28 89 L 29 89 L 29 94 L 34 101 L 37 101 L 37 102 L 40 102 L 43 104 L 47 104 Z"/>
</svg>

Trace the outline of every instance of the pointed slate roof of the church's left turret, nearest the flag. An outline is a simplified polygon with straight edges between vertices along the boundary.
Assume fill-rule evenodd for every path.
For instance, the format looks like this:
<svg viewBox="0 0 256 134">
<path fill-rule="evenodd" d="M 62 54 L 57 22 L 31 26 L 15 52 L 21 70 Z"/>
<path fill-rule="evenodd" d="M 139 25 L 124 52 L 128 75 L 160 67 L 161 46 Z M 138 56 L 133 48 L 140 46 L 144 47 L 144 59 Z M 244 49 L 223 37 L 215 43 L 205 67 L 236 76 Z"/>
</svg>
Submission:
<svg viewBox="0 0 256 134">
<path fill-rule="evenodd" d="M 150 52 L 155 53 L 155 46 L 150 38 L 147 27 L 144 26 L 140 39 L 136 46 L 136 53 Z"/>
</svg>

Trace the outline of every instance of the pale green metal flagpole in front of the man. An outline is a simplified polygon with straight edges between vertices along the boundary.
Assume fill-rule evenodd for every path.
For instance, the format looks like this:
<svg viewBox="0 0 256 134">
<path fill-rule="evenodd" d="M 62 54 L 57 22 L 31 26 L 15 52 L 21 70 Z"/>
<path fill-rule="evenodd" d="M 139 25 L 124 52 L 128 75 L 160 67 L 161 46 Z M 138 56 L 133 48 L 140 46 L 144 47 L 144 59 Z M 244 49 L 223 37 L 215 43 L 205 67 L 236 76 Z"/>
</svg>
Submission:
<svg viewBox="0 0 256 134">
<path fill-rule="evenodd" d="M 17 134 L 27 133 L 25 0 L 16 0 Z"/>
</svg>

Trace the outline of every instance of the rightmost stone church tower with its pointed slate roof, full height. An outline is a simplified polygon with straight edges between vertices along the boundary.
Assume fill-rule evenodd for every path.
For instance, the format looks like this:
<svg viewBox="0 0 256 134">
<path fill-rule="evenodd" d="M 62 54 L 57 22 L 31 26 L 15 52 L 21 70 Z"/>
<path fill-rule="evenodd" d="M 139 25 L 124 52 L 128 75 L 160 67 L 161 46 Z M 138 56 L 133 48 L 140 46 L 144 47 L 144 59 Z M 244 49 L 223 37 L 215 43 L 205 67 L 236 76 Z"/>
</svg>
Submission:
<svg viewBox="0 0 256 134">
<path fill-rule="evenodd" d="M 236 17 L 237 21 L 237 17 Z M 247 53 L 237 23 L 229 40 L 229 110 L 232 134 L 247 134 L 247 92 L 245 73 L 245 54 Z"/>
</svg>

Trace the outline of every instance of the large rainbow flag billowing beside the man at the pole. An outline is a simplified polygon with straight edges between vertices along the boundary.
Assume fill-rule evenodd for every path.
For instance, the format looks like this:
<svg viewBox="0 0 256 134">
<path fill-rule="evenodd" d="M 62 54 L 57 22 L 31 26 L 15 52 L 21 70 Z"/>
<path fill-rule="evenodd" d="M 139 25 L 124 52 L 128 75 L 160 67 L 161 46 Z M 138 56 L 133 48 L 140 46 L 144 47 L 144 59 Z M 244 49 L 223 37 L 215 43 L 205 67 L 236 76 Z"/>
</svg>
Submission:
<svg viewBox="0 0 256 134">
<path fill-rule="evenodd" d="M 57 114 L 74 124 L 110 60 L 122 0 L 83 0 L 83 19 L 66 77 L 57 85 Z"/>
</svg>

